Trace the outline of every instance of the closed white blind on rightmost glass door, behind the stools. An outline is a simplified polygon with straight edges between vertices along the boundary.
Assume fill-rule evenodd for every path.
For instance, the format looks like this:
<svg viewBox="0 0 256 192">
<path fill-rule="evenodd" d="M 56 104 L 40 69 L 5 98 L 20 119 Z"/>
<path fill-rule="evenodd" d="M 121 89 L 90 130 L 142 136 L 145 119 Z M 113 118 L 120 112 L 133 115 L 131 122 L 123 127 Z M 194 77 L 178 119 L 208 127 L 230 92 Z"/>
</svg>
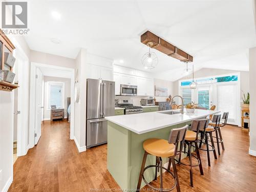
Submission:
<svg viewBox="0 0 256 192">
<path fill-rule="evenodd" d="M 229 112 L 229 123 L 237 123 L 237 85 L 236 84 L 218 84 L 218 104 L 217 110 Z"/>
</svg>

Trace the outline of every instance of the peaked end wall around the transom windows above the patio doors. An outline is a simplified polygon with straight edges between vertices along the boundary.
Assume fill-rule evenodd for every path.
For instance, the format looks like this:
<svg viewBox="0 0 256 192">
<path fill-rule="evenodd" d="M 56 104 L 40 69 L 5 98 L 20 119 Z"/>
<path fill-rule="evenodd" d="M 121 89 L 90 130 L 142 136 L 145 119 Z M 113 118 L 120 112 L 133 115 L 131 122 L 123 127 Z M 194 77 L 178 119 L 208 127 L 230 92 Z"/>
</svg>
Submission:
<svg viewBox="0 0 256 192">
<path fill-rule="evenodd" d="M 222 69 L 209 69 L 209 68 L 203 68 L 201 70 L 198 70 L 195 72 L 194 77 L 208 77 L 208 76 L 214 76 L 214 75 L 223 75 L 223 74 L 229 74 L 229 73 L 241 73 L 241 91 L 244 91 L 244 93 L 249 92 L 249 72 L 247 71 L 232 71 L 232 70 L 222 70 Z M 188 79 L 192 78 L 192 75 L 188 75 L 182 79 Z M 174 81 L 174 93 L 175 95 L 178 95 L 179 93 L 179 80 Z M 242 93 L 241 93 L 242 95 Z"/>
</svg>

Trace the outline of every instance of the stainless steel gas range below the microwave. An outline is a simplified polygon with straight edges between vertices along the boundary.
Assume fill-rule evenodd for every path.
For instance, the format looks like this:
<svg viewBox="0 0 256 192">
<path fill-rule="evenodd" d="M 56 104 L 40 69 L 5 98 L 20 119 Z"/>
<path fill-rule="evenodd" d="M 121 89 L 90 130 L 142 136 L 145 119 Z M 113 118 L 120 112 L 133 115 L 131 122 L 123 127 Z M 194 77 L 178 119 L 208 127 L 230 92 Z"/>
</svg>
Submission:
<svg viewBox="0 0 256 192">
<path fill-rule="evenodd" d="M 119 108 L 124 108 L 124 114 L 134 114 L 142 113 L 143 108 L 141 106 L 134 106 L 132 99 L 119 99 L 118 105 Z"/>
</svg>

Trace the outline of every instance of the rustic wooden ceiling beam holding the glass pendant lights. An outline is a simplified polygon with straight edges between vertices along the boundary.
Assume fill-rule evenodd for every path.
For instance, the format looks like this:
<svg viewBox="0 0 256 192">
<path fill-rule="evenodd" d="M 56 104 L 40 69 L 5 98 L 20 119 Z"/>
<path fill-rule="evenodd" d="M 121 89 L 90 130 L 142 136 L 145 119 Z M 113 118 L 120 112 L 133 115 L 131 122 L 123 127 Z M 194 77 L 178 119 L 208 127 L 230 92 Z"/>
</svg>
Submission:
<svg viewBox="0 0 256 192">
<path fill-rule="evenodd" d="M 185 51 L 182 51 L 178 47 L 170 44 L 161 37 L 155 35 L 150 31 L 146 31 L 140 36 L 142 44 L 151 45 L 151 48 L 156 49 L 168 56 L 179 59 L 182 62 L 193 62 L 193 56 L 189 55 Z"/>
</svg>

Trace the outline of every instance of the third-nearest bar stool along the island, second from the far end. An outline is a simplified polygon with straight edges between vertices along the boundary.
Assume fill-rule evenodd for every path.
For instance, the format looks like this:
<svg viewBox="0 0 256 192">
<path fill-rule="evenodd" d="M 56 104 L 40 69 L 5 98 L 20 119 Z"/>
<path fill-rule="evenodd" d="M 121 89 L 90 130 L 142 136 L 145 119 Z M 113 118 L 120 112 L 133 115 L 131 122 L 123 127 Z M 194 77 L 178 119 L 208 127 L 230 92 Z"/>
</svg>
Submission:
<svg viewBox="0 0 256 192">
<path fill-rule="evenodd" d="M 201 141 L 199 144 L 199 150 L 206 151 L 207 152 L 207 159 L 208 159 L 208 166 L 210 166 L 210 151 L 214 152 L 214 158 L 217 159 L 216 150 L 214 146 L 214 139 L 212 137 L 212 132 L 215 132 L 218 129 L 218 126 L 220 124 L 221 115 L 214 115 L 212 117 L 212 123 L 215 123 L 215 126 L 208 126 L 205 129 L 205 133 L 201 132 Z M 209 138 L 211 145 L 209 144 Z M 204 139 L 204 142 L 203 142 Z M 202 148 L 202 144 L 206 144 L 206 150 Z M 209 146 L 211 148 L 209 148 Z"/>
</svg>

